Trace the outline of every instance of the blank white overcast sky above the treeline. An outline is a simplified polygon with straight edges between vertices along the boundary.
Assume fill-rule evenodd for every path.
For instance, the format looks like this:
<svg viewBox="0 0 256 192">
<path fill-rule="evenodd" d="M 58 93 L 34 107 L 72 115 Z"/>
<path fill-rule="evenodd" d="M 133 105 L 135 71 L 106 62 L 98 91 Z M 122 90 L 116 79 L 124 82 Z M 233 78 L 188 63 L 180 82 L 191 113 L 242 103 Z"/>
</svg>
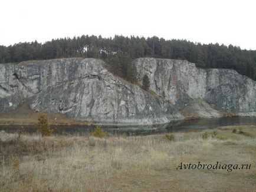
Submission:
<svg viewBox="0 0 256 192">
<path fill-rule="evenodd" d="M 117 35 L 256 49 L 255 0 L 1 0 L 0 45 Z"/>
</svg>

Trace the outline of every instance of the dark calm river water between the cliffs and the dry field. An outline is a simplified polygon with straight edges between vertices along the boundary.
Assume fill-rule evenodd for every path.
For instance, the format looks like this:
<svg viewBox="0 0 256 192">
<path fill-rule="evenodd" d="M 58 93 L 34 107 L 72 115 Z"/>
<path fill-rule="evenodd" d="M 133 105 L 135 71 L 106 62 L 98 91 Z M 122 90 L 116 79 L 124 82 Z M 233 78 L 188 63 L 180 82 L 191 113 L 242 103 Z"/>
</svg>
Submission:
<svg viewBox="0 0 256 192">
<path fill-rule="evenodd" d="M 251 125 L 256 124 L 256 117 L 225 117 L 208 118 L 201 120 L 170 121 L 169 124 L 160 125 L 103 125 L 103 130 L 111 134 L 126 135 L 147 135 L 166 132 L 189 131 L 196 129 L 211 129 L 227 125 Z M 54 134 L 65 135 L 87 135 L 93 129 L 91 125 L 52 125 Z M 35 133 L 34 125 L 0 125 L 0 130 L 8 133 L 15 133 L 17 130 L 24 130 L 28 133 Z"/>
</svg>

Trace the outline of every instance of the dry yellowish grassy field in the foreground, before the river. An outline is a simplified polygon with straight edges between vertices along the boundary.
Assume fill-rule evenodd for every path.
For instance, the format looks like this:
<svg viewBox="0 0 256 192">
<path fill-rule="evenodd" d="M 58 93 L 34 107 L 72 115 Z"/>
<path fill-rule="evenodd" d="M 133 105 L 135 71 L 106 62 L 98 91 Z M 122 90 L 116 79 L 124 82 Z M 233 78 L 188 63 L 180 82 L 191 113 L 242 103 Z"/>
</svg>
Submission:
<svg viewBox="0 0 256 192">
<path fill-rule="evenodd" d="M 255 191 L 256 126 L 208 130 L 206 140 L 204 133 L 174 133 L 168 139 L 166 134 L 97 138 L 1 132 L 0 191 Z M 176 169 L 180 162 L 198 161 L 251 164 L 251 169 Z"/>
</svg>

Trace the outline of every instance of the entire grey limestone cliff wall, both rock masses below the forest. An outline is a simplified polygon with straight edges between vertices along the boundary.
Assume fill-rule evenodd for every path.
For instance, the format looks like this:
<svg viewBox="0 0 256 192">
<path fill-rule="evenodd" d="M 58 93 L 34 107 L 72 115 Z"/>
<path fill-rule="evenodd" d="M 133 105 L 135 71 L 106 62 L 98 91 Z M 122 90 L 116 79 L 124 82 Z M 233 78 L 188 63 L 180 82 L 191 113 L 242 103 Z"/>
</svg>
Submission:
<svg viewBox="0 0 256 192">
<path fill-rule="evenodd" d="M 138 80 L 149 75 L 150 89 L 156 94 L 114 76 L 99 59 L 0 64 L 0 110 L 14 110 L 29 100 L 35 111 L 126 124 L 168 123 L 185 118 L 182 110 L 187 108 L 197 109 L 198 117 L 219 117 L 219 111 L 255 115 L 255 81 L 235 71 L 198 69 L 170 59 L 140 58 L 134 63 Z"/>
</svg>

